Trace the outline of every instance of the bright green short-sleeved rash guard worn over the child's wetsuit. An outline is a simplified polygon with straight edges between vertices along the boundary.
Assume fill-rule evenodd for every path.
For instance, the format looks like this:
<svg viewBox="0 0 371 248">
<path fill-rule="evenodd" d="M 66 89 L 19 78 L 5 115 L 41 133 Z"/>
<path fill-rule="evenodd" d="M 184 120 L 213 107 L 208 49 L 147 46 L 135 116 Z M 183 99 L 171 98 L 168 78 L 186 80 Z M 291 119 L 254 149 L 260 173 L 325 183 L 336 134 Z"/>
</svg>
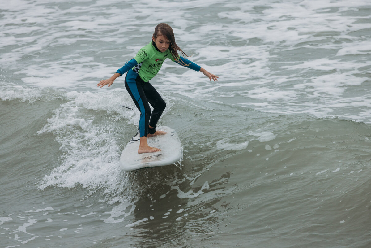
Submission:
<svg viewBox="0 0 371 248">
<path fill-rule="evenodd" d="M 175 61 L 169 49 L 165 52 L 159 52 L 150 42 L 147 46 L 141 48 L 134 57 L 138 65 L 133 70 L 139 74 L 144 82 L 148 82 L 160 71 L 162 63 L 167 58 Z"/>
</svg>

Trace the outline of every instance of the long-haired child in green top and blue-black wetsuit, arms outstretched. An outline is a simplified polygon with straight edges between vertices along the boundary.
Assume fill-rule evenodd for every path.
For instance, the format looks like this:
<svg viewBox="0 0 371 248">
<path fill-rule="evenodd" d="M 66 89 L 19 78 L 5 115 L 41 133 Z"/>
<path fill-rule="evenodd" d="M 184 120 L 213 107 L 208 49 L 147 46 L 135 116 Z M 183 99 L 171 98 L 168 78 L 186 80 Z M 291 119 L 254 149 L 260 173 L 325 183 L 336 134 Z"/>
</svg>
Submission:
<svg viewBox="0 0 371 248">
<path fill-rule="evenodd" d="M 169 58 L 179 65 L 200 71 L 210 81 L 217 81 L 217 78 L 219 78 L 204 68 L 201 68 L 201 66 L 179 56 L 177 51 L 180 51 L 183 56 L 187 56 L 175 43 L 173 29 L 166 23 L 160 23 L 155 27 L 152 41 L 147 46 L 141 48 L 137 55 L 118 69 L 111 78 L 102 80 L 98 84 L 100 88 L 105 85 L 110 87 L 116 78 L 127 72 L 125 76 L 125 88 L 141 112 L 139 118 L 140 141 L 138 153 L 161 151 L 161 149 L 156 147 L 148 146 L 147 137 L 165 134 L 164 131 L 156 130 L 156 125 L 166 104 L 149 81 L 160 71 L 165 59 Z M 148 103 L 153 107 L 152 112 Z"/>
</svg>

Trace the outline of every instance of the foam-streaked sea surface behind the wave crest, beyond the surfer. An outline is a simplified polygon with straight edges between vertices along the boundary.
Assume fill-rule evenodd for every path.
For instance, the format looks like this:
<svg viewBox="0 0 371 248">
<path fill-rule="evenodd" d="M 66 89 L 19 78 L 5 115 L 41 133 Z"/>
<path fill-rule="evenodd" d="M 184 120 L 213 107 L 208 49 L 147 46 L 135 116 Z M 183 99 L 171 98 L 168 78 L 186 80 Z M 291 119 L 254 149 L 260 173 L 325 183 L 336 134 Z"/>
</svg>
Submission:
<svg viewBox="0 0 371 248">
<path fill-rule="evenodd" d="M 240 105 L 263 112 L 316 117 L 337 112 L 339 117 L 371 121 L 367 110 L 371 100 L 350 87 L 368 80 L 365 73 L 371 65 L 364 32 L 370 15 L 348 14 L 364 9 L 364 1 L 217 0 L 213 4 L 223 6 L 215 13 L 218 18 L 199 16 L 203 25 L 194 18 L 199 15 L 194 1 L 164 3 L 141 0 L 120 8 L 123 3 L 110 0 L 64 9 L 45 0 L 27 4 L 13 0 L 3 7 L 0 23 L 4 82 L 8 84 L 11 75 L 43 88 L 95 90 L 99 80 L 111 76 L 146 45 L 155 26 L 147 17 L 156 12 L 167 17 L 178 45 L 193 53 L 191 60 L 220 76 L 220 81 L 209 82 L 201 73 L 168 60 L 152 81 L 161 91 L 207 101 L 220 98 L 219 102 L 233 101 L 227 98 L 234 99 L 238 91 L 245 100 Z M 257 11 L 257 5 L 263 10 Z M 101 91 L 112 90 L 125 91 L 123 78 Z M 352 95 L 358 97 L 348 97 Z M 348 99 L 340 103 L 343 107 L 336 105 L 344 98 Z"/>
</svg>

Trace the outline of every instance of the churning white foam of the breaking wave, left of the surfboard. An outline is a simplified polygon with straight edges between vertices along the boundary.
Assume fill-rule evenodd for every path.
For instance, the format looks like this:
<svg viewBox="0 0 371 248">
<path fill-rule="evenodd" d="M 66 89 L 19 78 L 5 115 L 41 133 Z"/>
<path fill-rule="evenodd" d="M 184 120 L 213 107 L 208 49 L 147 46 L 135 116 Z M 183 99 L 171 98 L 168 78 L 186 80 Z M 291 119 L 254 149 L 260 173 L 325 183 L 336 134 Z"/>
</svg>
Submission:
<svg viewBox="0 0 371 248">
<path fill-rule="evenodd" d="M 103 111 L 109 118 L 124 118 L 129 125 L 137 124 L 139 111 L 122 107 L 127 105 L 135 109 L 134 103 L 119 92 L 71 91 L 66 92 L 65 96 L 68 102 L 60 105 L 52 118 L 37 132 L 39 135 L 52 133 L 63 152 L 60 163 L 40 181 L 39 189 L 81 185 L 93 192 L 104 188 L 104 195 L 112 202 L 119 200 L 121 190 L 128 196 L 123 181 L 124 173 L 118 166 L 121 143 L 118 144 L 117 140 L 122 134 L 113 133 L 116 127 L 109 121 L 95 124 L 94 120 L 95 113 Z M 134 128 L 132 132 L 135 131 Z"/>
</svg>

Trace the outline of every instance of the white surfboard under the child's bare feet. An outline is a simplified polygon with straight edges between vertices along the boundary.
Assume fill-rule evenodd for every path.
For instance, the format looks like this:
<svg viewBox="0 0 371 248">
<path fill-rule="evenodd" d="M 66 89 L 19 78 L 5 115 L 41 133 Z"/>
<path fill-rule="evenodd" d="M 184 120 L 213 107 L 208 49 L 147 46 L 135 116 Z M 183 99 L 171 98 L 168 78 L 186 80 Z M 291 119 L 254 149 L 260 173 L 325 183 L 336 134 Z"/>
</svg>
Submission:
<svg viewBox="0 0 371 248">
<path fill-rule="evenodd" d="M 151 147 L 160 148 L 155 153 L 138 153 L 139 135 L 125 146 L 120 156 L 120 167 L 124 171 L 132 171 L 144 167 L 165 166 L 179 161 L 183 155 L 181 142 L 174 129 L 166 126 L 158 127 L 158 130 L 167 134 L 147 138 Z"/>
</svg>

